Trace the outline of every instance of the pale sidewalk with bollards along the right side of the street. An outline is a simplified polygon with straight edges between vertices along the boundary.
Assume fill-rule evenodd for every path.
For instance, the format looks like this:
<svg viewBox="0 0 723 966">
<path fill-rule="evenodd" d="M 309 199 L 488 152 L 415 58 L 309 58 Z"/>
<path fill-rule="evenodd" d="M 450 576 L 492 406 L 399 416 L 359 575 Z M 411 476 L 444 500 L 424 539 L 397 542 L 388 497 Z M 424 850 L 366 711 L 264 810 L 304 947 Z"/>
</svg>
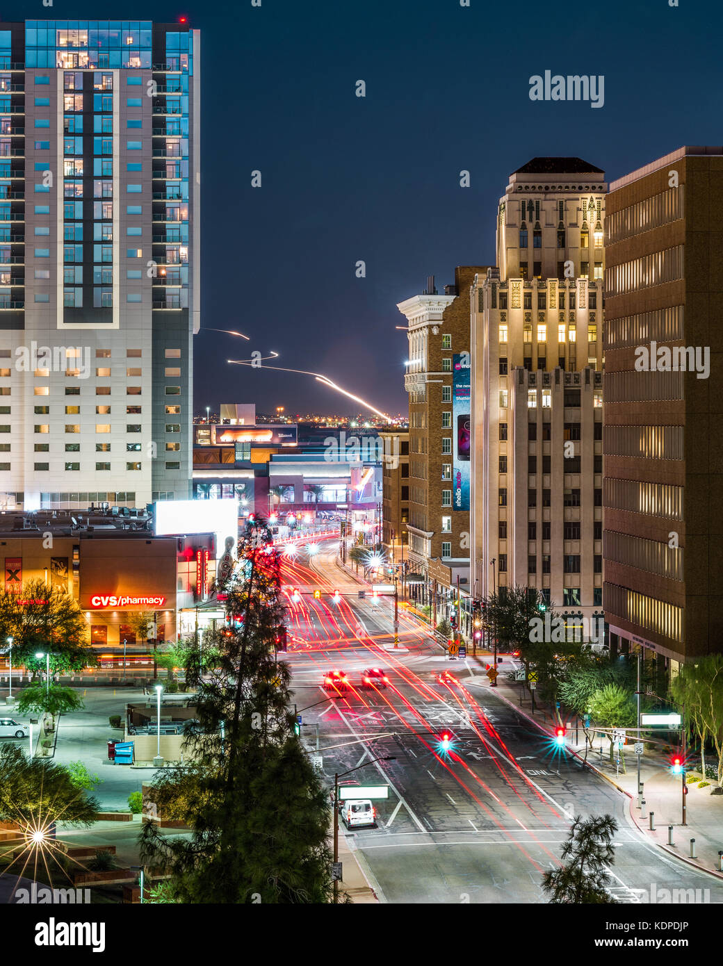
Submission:
<svg viewBox="0 0 723 966">
<path fill-rule="evenodd" d="M 491 659 L 491 655 L 489 656 Z M 486 655 L 477 657 L 477 663 L 485 666 Z M 554 711 L 546 705 L 540 706 L 535 701 L 535 715 L 532 713 L 530 692 L 525 689 L 520 704 L 519 686 L 506 679 L 505 672 L 497 679 L 495 689 L 497 695 L 511 704 L 529 721 L 532 721 L 546 732 L 550 732 L 556 724 Z M 574 716 L 566 715 L 563 722 L 572 724 Z M 634 729 L 628 728 L 632 735 Z M 575 741 L 575 729 L 572 725 L 566 735 L 566 745 L 569 753 L 575 754 L 581 760 L 585 759 L 585 735 L 582 726 L 578 731 L 578 742 Z M 685 796 L 687 824 L 682 825 L 682 779 L 680 775 L 673 775 L 670 769 L 669 756 L 646 747 L 641 760 L 640 781 L 644 786 L 646 807 L 645 817 L 642 809 L 638 808 L 638 776 L 637 755 L 633 751 L 634 740 L 628 739 L 622 750 L 624 755 L 625 773 L 620 774 L 615 761 L 610 761 L 610 743 L 607 738 L 602 741 L 602 760 L 599 753 L 599 739 L 594 742 L 594 748 L 588 749 L 587 766 L 600 775 L 605 781 L 615 785 L 628 797 L 630 817 L 651 845 L 678 856 L 688 865 L 707 871 L 723 879 L 720 871 L 719 851 L 723 851 L 723 795 L 711 795 L 711 790 L 717 785 L 713 779 L 707 779 L 709 785 L 699 788 L 697 783 L 688 785 Z M 712 763 L 712 758 L 709 764 Z M 622 764 L 622 763 L 621 763 Z M 689 772 L 700 776 L 700 770 Z M 654 831 L 650 828 L 650 815 L 654 814 Z M 668 827 L 673 826 L 673 845 L 668 844 Z M 690 839 L 695 839 L 695 854 L 691 858 Z"/>
</svg>

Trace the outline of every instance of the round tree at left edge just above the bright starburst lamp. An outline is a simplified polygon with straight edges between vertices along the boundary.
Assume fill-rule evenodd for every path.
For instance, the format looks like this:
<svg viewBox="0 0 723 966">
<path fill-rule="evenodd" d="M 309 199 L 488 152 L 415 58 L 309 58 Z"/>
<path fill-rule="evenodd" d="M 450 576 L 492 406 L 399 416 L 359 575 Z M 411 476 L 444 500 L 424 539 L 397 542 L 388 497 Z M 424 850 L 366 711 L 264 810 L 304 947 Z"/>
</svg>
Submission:
<svg viewBox="0 0 723 966">
<path fill-rule="evenodd" d="M 55 820 L 93 824 L 98 801 L 72 782 L 63 765 L 28 758 L 14 745 L 0 748 L 0 820 L 44 829 Z"/>
</svg>

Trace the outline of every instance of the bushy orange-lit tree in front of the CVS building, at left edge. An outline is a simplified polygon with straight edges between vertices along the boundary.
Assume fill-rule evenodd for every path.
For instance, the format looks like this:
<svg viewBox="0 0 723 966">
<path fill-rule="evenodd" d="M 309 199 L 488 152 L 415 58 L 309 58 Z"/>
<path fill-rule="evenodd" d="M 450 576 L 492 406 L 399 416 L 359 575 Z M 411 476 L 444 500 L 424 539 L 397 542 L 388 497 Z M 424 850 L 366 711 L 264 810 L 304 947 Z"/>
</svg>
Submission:
<svg viewBox="0 0 723 966">
<path fill-rule="evenodd" d="M 45 668 L 44 653 L 50 653 L 50 671 L 78 670 L 96 663 L 87 645 L 88 624 L 72 596 L 60 587 L 48 587 L 34 578 L 17 593 L 0 590 L 0 641 L 8 653 L 13 638 L 13 662 L 33 671 Z M 43 658 L 36 653 L 43 651 Z"/>
</svg>

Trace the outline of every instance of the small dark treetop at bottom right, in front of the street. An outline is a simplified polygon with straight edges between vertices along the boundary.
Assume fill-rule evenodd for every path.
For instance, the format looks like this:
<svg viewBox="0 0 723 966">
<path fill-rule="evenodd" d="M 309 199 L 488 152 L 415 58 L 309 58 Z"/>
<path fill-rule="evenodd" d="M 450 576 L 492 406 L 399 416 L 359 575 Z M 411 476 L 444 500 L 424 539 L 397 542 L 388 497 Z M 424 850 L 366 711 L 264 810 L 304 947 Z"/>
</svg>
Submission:
<svg viewBox="0 0 723 966">
<path fill-rule="evenodd" d="M 612 815 L 583 819 L 576 815 L 564 842 L 564 866 L 542 874 L 542 891 L 552 895 L 550 902 L 574 904 L 615 904 L 607 891 L 607 870 L 615 862 L 612 839 L 618 823 Z"/>
</svg>

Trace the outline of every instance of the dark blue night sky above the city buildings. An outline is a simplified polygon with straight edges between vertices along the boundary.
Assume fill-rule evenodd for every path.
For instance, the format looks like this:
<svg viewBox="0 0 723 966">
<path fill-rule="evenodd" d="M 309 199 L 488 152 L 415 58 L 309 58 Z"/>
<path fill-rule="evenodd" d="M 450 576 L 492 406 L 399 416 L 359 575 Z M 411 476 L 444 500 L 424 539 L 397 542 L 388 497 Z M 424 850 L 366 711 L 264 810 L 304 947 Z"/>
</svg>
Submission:
<svg viewBox="0 0 723 966">
<path fill-rule="evenodd" d="M 101 9 L 102 8 L 102 9 Z M 494 259 L 498 198 L 533 156 L 608 180 L 721 137 L 719 0 L 41 0 L 5 20 L 175 20 L 202 31 L 202 326 L 195 409 L 348 412 L 252 350 L 406 408 L 396 302 Z M 605 102 L 537 102 L 532 74 L 604 74 Z M 366 98 L 355 82 L 366 82 Z M 253 169 L 262 187 L 250 186 Z M 459 187 L 468 169 L 472 185 Z M 355 277 L 358 260 L 366 277 Z"/>
</svg>

